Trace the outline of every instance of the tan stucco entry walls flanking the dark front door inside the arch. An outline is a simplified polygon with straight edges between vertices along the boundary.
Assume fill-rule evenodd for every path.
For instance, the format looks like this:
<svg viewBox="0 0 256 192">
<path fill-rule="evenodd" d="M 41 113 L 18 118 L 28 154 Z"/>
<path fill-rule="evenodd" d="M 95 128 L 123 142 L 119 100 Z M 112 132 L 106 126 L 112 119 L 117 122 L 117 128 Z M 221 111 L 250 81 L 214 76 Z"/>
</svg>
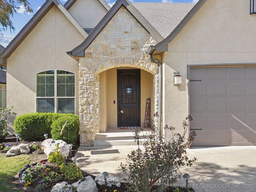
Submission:
<svg viewBox="0 0 256 192">
<path fill-rule="evenodd" d="M 100 73 L 100 132 L 106 132 L 107 128 L 117 127 L 117 70 L 136 69 L 119 67 Z M 151 118 L 154 117 L 154 76 L 144 70 L 140 71 L 140 122 L 145 119 L 146 99 L 151 98 Z M 102 93 L 103 92 L 103 93 Z M 116 102 L 114 104 L 114 101 Z M 107 118 L 105 117 L 107 115 Z"/>
</svg>

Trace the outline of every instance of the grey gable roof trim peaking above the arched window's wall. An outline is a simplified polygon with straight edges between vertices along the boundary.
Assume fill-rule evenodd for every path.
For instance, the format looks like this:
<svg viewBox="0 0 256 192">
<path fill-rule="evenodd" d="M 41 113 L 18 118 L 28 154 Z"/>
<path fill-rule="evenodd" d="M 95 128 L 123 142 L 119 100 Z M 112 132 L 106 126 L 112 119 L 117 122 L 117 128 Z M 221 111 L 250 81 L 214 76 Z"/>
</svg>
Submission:
<svg viewBox="0 0 256 192">
<path fill-rule="evenodd" d="M 86 38 L 88 34 L 78 24 L 78 22 L 71 16 L 71 14 L 64 8 L 64 6 L 58 0 L 46 0 L 42 7 L 34 14 L 30 21 L 22 28 L 22 30 L 16 35 L 16 37 L 10 42 L 10 44 L 2 52 L 2 65 L 7 64 L 7 58 L 16 50 L 21 42 L 30 34 L 35 26 L 42 20 L 42 18 L 48 13 L 48 11 L 56 5 L 60 11 L 70 20 L 70 22 L 76 27 L 76 29 Z"/>
</svg>

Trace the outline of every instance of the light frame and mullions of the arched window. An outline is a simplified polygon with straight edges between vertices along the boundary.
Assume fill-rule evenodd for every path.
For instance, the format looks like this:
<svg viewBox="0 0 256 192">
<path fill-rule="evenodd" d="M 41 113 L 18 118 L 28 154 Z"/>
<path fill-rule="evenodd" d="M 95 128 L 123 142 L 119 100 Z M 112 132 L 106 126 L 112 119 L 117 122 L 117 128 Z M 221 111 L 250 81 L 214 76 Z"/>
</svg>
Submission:
<svg viewBox="0 0 256 192">
<path fill-rule="evenodd" d="M 54 113 L 58 113 L 58 98 L 74 98 L 75 99 L 74 114 L 76 114 L 76 73 L 75 72 L 72 72 L 72 71 L 66 70 L 66 69 L 46 69 L 46 70 L 36 72 L 36 74 L 35 74 L 35 82 L 36 82 L 35 90 L 36 90 L 36 92 L 35 93 L 37 93 L 37 74 L 41 73 L 41 72 L 45 72 L 45 71 L 51 71 L 51 70 L 54 70 L 54 97 L 38 97 L 38 96 L 36 96 L 36 112 L 38 112 L 38 102 L 37 102 L 38 98 L 49 98 L 49 99 L 54 98 Z M 75 75 L 75 96 L 74 97 L 57 97 L 57 71 L 58 70 L 74 73 L 74 75 Z"/>
</svg>

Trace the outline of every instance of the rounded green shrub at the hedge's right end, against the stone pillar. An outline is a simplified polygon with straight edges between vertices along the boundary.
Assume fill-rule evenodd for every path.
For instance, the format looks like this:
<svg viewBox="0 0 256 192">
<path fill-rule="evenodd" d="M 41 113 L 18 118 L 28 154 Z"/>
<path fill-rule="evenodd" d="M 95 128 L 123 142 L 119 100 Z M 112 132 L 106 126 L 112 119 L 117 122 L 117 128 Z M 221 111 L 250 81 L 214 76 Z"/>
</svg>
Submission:
<svg viewBox="0 0 256 192">
<path fill-rule="evenodd" d="M 72 143 L 73 145 L 76 143 L 78 139 L 79 132 L 79 116 L 67 114 L 67 116 L 60 117 L 52 122 L 51 125 L 51 134 L 52 138 L 55 140 L 63 140 L 66 143 Z M 60 135 L 60 131 L 62 130 L 63 125 L 66 120 L 70 117 L 64 130 L 62 131 L 62 135 Z"/>
</svg>

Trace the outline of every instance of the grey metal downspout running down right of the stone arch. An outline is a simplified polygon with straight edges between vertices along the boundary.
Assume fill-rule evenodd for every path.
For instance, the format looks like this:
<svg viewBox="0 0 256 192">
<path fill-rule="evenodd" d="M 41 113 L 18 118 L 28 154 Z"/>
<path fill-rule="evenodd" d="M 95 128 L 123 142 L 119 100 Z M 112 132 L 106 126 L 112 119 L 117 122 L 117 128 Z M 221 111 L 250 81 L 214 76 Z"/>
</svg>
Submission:
<svg viewBox="0 0 256 192">
<path fill-rule="evenodd" d="M 162 125 L 162 62 L 153 59 L 152 53 L 155 50 L 155 46 L 150 46 L 148 49 L 148 60 L 152 63 L 158 64 L 158 75 L 159 75 L 159 89 L 158 89 L 158 136 L 162 134 L 161 125 Z"/>
</svg>

